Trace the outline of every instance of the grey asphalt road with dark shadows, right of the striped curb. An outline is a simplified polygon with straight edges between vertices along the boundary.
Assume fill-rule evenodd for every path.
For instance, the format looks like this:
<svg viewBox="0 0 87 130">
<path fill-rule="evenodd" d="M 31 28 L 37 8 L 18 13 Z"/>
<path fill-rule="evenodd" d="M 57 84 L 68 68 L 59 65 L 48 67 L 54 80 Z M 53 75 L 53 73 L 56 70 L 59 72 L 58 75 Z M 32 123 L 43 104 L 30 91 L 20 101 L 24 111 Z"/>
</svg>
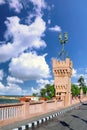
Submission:
<svg viewBox="0 0 87 130">
<path fill-rule="evenodd" d="M 32 130 L 87 130 L 87 103 Z"/>
</svg>

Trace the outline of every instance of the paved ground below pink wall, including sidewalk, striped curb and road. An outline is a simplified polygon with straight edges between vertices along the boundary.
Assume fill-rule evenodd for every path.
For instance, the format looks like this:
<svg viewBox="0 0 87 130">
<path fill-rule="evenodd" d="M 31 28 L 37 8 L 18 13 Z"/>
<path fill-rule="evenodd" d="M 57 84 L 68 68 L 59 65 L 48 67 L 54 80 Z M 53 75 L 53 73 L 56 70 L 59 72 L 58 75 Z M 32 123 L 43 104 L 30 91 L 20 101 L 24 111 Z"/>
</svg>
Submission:
<svg viewBox="0 0 87 130">
<path fill-rule="evenodd" d="M 27 126 L 27 128 L 26 128 Z M 29 126 L 29 128 L 28 128 Z M 58 111 L 49 112 L 0 130 L 87 130 L 87 103 L 79 103 Z"/>
</svg>

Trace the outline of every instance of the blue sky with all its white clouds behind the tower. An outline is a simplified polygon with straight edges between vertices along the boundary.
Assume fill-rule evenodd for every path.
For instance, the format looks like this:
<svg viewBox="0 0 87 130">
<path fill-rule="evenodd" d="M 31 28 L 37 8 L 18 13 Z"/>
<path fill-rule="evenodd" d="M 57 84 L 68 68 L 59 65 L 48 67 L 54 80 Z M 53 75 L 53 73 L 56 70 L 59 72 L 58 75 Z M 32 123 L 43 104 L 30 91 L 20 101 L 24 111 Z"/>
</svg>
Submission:
<svg viewBox="0 0 87 130">
<path fill-rule="evenodd" d="M 59 33 L 73 62 L 72 83 L 87 84 L 86 0 L 0 0 L 0 95 L 32 95 L 54 84 Z"/>
</svg>

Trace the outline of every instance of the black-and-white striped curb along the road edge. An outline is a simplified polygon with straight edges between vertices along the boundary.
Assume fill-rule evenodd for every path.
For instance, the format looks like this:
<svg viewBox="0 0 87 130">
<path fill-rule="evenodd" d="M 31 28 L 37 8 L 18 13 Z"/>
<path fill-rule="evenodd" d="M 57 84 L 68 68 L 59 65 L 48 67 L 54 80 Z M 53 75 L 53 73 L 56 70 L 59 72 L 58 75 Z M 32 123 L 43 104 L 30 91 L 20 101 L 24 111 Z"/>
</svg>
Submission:
<svg viewBox="0 0 87 130">
<path fill-rule="evenodd" d="M 62 110 L 62 111 L 59 111 L 59 112 L 55 112 L 54 114 L 50 114 L 49 116 L 43 117 L 43 118 L 41 118 L 41 119 L 39 119 L 39 120 L 29 122 L 29 123 L 27 123 L 26 125 L 20 126 L 20 127 L 18 127 L 18 128 L 14 128 L 14 129 L 12 129 L 12 130 L 26 130 L 26 129 L 35 128 L 35 127 L 41 125 L 42 123 L 47 122 L 48 120 L 51 120 L 51 119 L 53 119 L 53 118 L 55 118 L 55 117 L 57 117 L 57 116 L 60 116 L 60 115 L 66 113 L 66 112 L 68 112 L 68 111 L 71 111 L 71 110 L 73 110 L 73 109 L 76 109 L 76 108 L 78 108 L 79 106 L 81 106 L 81 103 L 78 104 L 78 105 L 76 105 L 76 106 L 72 106 L 72 107 L 70 107 L 70 108 L 67 108 L 67 109 L 65 109 L 65 110 Z"/>
</svg>

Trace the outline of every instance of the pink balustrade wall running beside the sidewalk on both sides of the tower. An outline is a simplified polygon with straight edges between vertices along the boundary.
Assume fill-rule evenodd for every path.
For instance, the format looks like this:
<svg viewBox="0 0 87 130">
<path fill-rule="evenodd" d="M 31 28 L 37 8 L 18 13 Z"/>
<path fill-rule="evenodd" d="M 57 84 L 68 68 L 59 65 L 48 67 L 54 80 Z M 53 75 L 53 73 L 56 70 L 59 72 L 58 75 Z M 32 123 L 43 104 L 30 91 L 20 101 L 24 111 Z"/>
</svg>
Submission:
<svg viewBox="0 0 87 130">
<path fill-rule="evenodd" d="M 87 101 L 87 96 L 82 98 L 82 101 Z M 81 100 L 74 98 L 72 104 L 76 104 Z M 53 99 L 50 101 L 38 102 L 20 102 L 15 104 L 0 104 L 0 126 L 28 119 L 30 117 L 45 114 L 50 111 L 58 110 L 66 107 L 64 100 Z"/>
</svg>

